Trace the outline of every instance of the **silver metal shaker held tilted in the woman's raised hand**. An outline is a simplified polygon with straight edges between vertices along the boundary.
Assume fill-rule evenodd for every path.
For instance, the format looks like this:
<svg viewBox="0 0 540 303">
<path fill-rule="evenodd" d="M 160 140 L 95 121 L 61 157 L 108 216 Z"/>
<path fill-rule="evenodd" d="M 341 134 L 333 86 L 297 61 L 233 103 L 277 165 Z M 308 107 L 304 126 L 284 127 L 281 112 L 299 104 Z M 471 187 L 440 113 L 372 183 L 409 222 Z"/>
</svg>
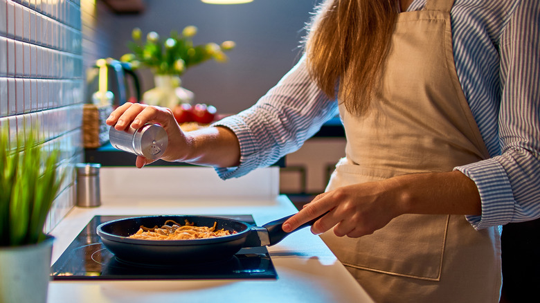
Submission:
<svg viewBox="0 0 540 303">
<path fill-rule="evenodd" d="M 111 127 L 109 140 L 114 148 L 147 159 L 161 157 L 169 143 L 165 129 L 156 124 L 145 124 L 140 129 L 129 126 L 125 131 L 117 131 Z"/>
</svg>

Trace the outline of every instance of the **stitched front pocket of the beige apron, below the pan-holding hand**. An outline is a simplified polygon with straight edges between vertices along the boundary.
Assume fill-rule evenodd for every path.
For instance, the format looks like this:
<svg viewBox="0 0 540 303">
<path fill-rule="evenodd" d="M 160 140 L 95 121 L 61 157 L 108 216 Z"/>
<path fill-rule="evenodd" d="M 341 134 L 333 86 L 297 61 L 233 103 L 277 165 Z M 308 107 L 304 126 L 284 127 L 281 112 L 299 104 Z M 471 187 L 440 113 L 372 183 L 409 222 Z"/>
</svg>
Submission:
<svg viewBox="0 0 540 303">
<path fill-rule="evenodd" d="M 372 235 L 336 237 L 329 230 L 321 238 L 346 266 L 438 281 L 448 219 L 447 215 L 406 214 Z"/>
</svg>

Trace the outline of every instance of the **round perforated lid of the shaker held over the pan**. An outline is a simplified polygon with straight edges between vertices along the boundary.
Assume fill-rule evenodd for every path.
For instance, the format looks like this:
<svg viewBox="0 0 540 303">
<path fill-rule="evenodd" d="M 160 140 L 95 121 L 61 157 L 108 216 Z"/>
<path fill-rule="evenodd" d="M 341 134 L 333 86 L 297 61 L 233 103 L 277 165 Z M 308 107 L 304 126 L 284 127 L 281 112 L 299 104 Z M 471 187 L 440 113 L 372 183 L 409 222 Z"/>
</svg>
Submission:
<svg viewBox="0 0 540 303">
<path fill-rule="evenodd" d="M 167 132 L 160 125 L 147 124 L 136 131 L 133 138 L 133 148 L 136 154 L 142 155 L 147 159 L 160 158 L 169 139 Z"/>
</svg>

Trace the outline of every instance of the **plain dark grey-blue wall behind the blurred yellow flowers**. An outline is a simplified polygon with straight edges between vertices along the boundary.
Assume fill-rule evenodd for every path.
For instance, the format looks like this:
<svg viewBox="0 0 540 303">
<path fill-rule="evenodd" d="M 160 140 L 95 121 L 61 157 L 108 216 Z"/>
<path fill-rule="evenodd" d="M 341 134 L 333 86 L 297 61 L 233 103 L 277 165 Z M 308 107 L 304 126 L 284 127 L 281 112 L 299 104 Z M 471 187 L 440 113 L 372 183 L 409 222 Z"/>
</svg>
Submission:
<svg viewBox="0 0 540 303">
<path fill-rule="evenodd" d="M 100 16 L 98 31 L 111 42 L 111 57 L 129 52 L 126 44 L 138 27 L 144 35 L 185 26 L 199 28 L 195 44 L 233 40 L 237 47 L 228 52 L 225 64 L 205 62 L 190 68 L 183 86 L 195 93 L 195 102 L 214 104 L 222 113 L 235 113 L 258 100 L 294 66 L 301 55 L 316 0 L 255 0 L 238 5 L 211 5 L 198 0 L 147 0 L 138 15 Z M 140 71 L 143 90 L 154 85 L 149 71 Z"/>
</svg>

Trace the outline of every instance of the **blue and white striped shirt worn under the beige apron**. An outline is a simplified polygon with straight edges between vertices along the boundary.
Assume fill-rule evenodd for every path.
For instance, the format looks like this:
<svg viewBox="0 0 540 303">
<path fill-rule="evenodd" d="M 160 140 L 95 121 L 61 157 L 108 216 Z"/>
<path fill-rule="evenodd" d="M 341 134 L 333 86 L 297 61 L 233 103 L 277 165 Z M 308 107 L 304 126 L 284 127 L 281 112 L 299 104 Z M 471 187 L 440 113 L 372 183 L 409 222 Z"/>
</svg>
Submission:
<svg viewBox="0 0 540 303">
<path fill-rule="evenodd" d="M 422 10 L 415 0 L 408 11 Z M 540 217 L 540 1 L 456 0 L 450 12 L 456 71 L 491 158 L 455 169 L 477 185 L 476 229 Z M 304 59 L 266 95 L 215 125 L 240 140 L 242 176 L 296 151 L 338 112 L 309 80 Z"/>
</svg>

